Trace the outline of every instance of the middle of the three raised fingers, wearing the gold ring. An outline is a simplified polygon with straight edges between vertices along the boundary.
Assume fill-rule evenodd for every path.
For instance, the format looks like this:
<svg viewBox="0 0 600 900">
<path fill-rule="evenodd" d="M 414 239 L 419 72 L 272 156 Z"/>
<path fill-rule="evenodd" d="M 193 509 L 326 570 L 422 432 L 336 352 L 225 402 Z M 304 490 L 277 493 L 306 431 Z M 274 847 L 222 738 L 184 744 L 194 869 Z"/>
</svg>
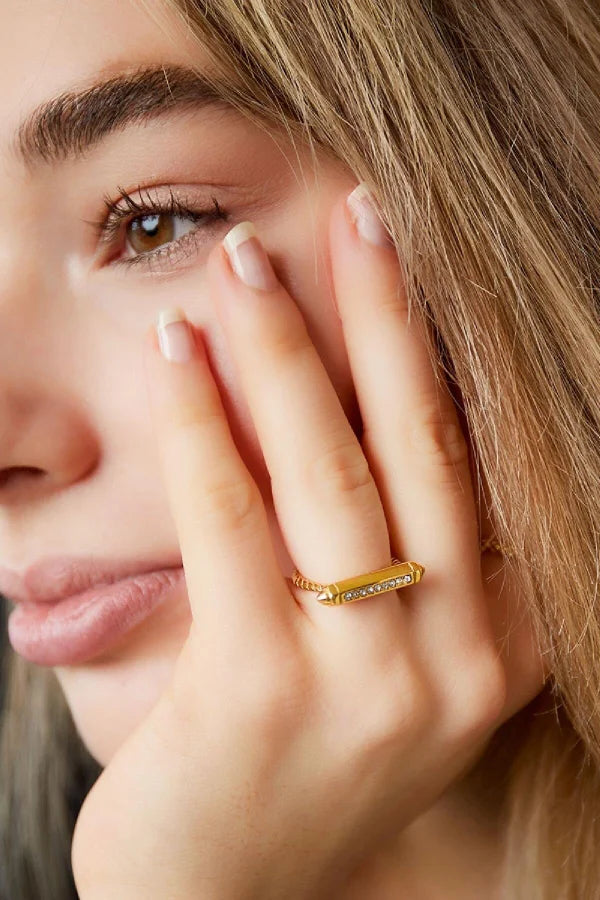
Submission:
<svg viewBox="0 0 600 900">
<path fill-rule="evenodd" d="M 211 295 L 292 559 L 302 574 L 321 583 L 390 565 L 377 487 L 298 306 L 278 281 L 252 223 L 236 225 L 224 245 L 249 283 L 238 277 L 222 249 L 207 265 Z M 343 610 L 319 604 L 312 592 L 301 592 L 299 602 L 313 621 L 344 640 L 355 635 L 363 645 L 368 639 L 389 640 L 390 628 L 399 628 L 395 592 Z"/>
</svg>

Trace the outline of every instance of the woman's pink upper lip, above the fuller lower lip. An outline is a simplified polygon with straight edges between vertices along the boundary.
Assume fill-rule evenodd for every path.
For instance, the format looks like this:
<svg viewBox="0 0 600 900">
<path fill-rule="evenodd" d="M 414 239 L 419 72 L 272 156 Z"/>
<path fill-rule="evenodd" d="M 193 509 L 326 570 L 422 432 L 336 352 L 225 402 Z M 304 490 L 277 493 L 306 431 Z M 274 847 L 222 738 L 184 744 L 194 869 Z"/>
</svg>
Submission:
<svg viewBox="0 0 600 900">
<path fill-rule="evenodd" d="M 91 587 L 114 584 L 132 575 L 180 568 L 181 561 L 106 560 L 60 556 L 34 563 L 19 575 L 0 566 L 0 593 L 13 603 L 56 603 Z"/>
</svg>

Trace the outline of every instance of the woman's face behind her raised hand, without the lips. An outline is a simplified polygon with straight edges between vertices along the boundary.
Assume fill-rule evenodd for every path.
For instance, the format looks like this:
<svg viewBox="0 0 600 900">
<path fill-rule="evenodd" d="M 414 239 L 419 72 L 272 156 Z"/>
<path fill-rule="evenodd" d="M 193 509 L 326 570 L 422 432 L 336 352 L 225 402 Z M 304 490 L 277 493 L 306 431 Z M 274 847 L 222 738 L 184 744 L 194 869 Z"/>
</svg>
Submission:
<svg viewBox="0 0 600 900">
<path fill-rule="evenodd" d="M 59 145 L 49 119 L 27 164 L 15 143 L 20 124 L 64 92 L 141 67 L 164 66 L 168 79 L 170 66 L 208 65 L 172 12 L 159 0 L 147 6 L 150 12 L 136 0 L 2 4 L 0 564 L 23 572 L 62 555 L 140 559 L 157 569 L 180 563 L 142 364 L 145 331 L 161 308 L 179 305 L 204 333 L 289 575 L 268 473 L 210 307 L 205 260 L 236 222 L 256 224 L 358 429 L 327 251 L 330 208 L 356 178 L 329 159 L 316 169 L 287 138 L 223 106 L 188 102 L 144 122 L 127 120 L 123 89 L 92 116 L 85 98 L 64 106 L 58 136 L 81 133 L 76 155 L 54 158 Z M 177 85 L 169 86 L 177 96 Z M 141 108 L 138 99 L 133 109 Z M 118 128 L 105 127 L 117 116 Z M 35 150 L 32 129 L 26 136 L 21 144 Z M 94 137 L 89 146 L 86 136 Z M 195 210 L 209 210 L 214 197 L 227 219 L 203 225 L 163 216 L 158 229 L 148 219 L 134 229 L 129 212 L 101 246 L 90 222 L 105 218 L 104 197 L 127 211 L 120 188 L 138 203 L 164 201 L 172 191 Z M 132 262 L 169 244 L 169 253 Z M 190 623 L 178 588 L 108 652 L 56 667 L 80 734 L 102 765 L 164 688 Z"/>
</svg>

